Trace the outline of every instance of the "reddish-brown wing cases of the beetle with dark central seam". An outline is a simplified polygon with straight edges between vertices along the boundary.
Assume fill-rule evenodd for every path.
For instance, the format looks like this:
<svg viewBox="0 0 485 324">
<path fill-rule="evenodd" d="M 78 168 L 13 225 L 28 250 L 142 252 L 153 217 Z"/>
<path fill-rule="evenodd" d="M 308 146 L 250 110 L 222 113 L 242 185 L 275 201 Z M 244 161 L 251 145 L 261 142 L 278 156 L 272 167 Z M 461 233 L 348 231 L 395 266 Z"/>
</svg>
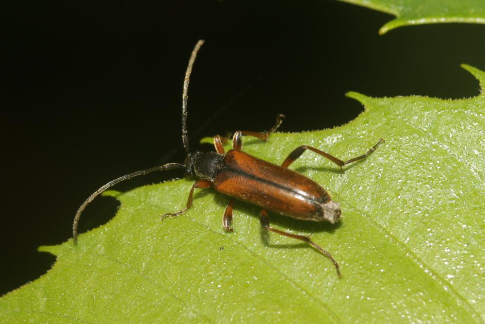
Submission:
<svg viewBox="0 0 485 324">
<path fill-rule="evenodd" d="M 214 188 L 238 200 L 283 215 L 310 221 L 335 222 L 324 214 L 330 195 L 316 182 L 294 171 L 231 150 L 226 153 Z M 339 216 L 339 215 L 338 215 Z"/>
</svg>

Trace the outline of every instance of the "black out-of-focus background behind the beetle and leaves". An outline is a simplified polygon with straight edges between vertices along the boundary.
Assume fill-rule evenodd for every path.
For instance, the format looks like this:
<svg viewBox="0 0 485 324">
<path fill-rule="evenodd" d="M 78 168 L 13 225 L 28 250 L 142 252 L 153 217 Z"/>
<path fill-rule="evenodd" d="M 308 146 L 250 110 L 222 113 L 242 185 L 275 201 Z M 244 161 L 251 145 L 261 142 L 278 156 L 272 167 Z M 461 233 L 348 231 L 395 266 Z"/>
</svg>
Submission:
<svg viewBox="0 0 485 324">
<path fill-rule="evenodd" d="M 69 239 L 78 206 L 98 187 L 184 159 L 182 82 L 199 38 L 206 44 L 189 90 L 193 148 L 203 136 L 268 129 L 277 113 L 287 116 L 285 132 L 340 125 L 363 110 L 345 98 L 349 90 L 474 96 L 478 83 L 459 64 L 485 68 L 483 25 L 379 36 L 392 16 L 333 0 L 27 1 L 2 11 L 0 294 L 51 267 L 54 256 L 37 247 Z M 80 232 L 116 207 L 97 199 Z"/>
</svg>

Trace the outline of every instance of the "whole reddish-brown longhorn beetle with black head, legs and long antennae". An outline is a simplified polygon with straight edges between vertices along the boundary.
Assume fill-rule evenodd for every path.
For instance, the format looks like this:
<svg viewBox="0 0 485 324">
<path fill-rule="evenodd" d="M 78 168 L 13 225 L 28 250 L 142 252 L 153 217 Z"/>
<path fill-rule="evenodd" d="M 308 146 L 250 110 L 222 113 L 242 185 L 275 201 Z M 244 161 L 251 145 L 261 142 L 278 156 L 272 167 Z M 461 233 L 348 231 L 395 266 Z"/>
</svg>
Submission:
<svg viewBox="0 0 485 324">
<path fill-rule="evenodd" d="M 187 158 L 182 163 L 168 163 L 159 167 L 136 171 L 126 174 L 113 181 L 110 181 L 103 187 L 94 192 L 88 199 L 79 207 L 74 222 L 72 224 L 72 234 L 74 242 L 77 242 L 78 237 L 78 222 L 81 213 L 93 199 L 101 192 L 113 185 L 130 179 L 132 177 L 146 174 L 153 171 L 162 171 L 170 169 L 184 169 L 187 176 L 196 177 L 199 180 L 194 183 L 189 193 L 187 205 L 176 213 L 167 213 L 162 215 L 162 219 L 168 216 L 176 217 L 183 214 L 192 206 L 192 197 L 195 188 L 214 188 L 216 191 L 224 193 L 231 198 L 226 207 L 223 217 L 223 227 L 226 231 L 232 231 L 232 209 L 235 200 L 242 200 L 250 204 L 261 207 L 259 220 L 261 225 L 268 231 L 275 232 L 293 239 L 299 239 L 309 243 L 312 247 L 317 249 L 320 253 L 327 256 L 334 264 L 337 273 L 340 276 L 339 264 L 335 259 L 323 250 L 319 245 L 313 242 L 308 236 L 296 235 L 288 232 L 280 231 L 270 226 L 268 210 L 282 215 L 290 216 L 300 220 L 323 222 L 327 221 L 335 223 L 339 220 L 341 210 L 340 204 L 334 202 L 328 192 L 323 189 L 316 182 L 307 177 L 291 171 L 288 168 L 293 161 L 300 157 L 307 149 L 318 153 L 330 161 L 337 164 L 340 168 L 342 166 L 363 159 L 375 151 L 377 146 L 384 142 L 381 138 L 367 153 L 357 156 L 347 161 L 342 161 L 328 153 L 320 151 L 316 148 L 302 145 L 294 149 L 290 155 L 285 159 L 281 166 L 260 160 L 254 156 L 241 152 L 242 141 L 241 136 L 254 136 L 263 140 L 276 131 L 281 124 L 283 115 L 278 115 L 275 126 L 268 132 L 250 132 L 237 131 L 233 136 L 233 149 L 226 152 L 223 147 L 223 140 L 221 136 L 214 136 L 214 146 L 216 152 L 190 152 L 189 138 L 187 133 L 187 99 L 190 74 L 192 66 L 195 61 L 195 56 L 200 47 L 204 43 L 199 40 L 192 51 L 189 65 L 185 73 L 183 95 L 182 95 L 182 141 Z"/>
</svg>

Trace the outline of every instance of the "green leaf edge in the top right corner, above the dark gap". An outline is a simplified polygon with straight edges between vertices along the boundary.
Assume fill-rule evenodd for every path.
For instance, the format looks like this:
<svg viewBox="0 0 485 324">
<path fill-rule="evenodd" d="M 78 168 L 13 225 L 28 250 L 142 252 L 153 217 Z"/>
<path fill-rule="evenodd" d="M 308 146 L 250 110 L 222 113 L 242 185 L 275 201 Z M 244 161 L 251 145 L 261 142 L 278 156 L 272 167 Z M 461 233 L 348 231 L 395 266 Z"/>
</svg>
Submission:
<svg viewBox="0 0 485 324">
<path fill-rule="evenodd" d="M 379 34 L 391 29 L 442 22 L 485 23 L 483 0 L 340 0 L 379 10 L 397 18 L 382 26 Z"/>
</svg>

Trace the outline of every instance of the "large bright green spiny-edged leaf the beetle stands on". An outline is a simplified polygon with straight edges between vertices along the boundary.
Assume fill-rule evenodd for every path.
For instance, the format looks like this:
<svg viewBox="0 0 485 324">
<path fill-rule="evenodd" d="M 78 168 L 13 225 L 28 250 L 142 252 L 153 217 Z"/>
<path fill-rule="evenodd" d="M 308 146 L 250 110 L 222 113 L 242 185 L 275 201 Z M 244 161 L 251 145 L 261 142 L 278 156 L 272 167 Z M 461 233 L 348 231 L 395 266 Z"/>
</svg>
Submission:
<svg viewBox="0 0 485 324">
<path fill-rule="evenodd" d="M 485 73 L 464 66 L 480 81 Z M 259 209 L 236 204 L 233 233 L 221 220 L 229 198 L 176 180 L 110 191 L 112 221 L 41 247 L 57 262 L 40 279 L 0 299 L 9 323 L 484 323 L 484 94 L 463 100 L 370 98 L 366 110 L 331 130 L 244 138 L 243 150 L 281 163 L 308 144 L 343 159 L 339 167 L 306 152 L 291 165 L 342 204 L 337 225 L 271 215 L 276 228 L 312 234 L 341 266 L 306 244 L 259 225 Z M 81 220 L 82 221 L 82 220 Z"/>
</svg>

